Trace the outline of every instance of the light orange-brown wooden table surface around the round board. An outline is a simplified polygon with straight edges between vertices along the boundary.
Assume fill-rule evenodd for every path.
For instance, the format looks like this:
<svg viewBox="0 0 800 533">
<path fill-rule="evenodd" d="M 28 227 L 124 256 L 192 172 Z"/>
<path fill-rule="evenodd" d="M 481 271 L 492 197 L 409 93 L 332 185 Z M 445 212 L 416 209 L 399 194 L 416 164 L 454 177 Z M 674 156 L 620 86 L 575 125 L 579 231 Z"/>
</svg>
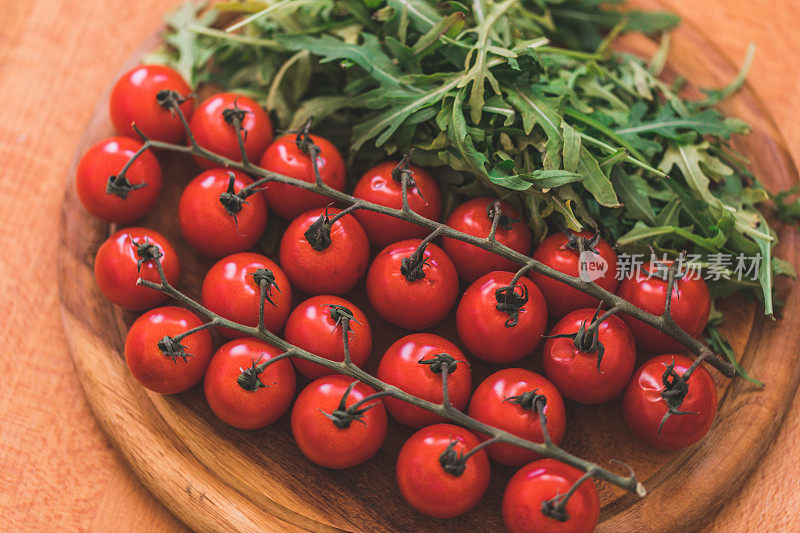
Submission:
<svg viewBox="0 0 800 533">
<path fill-rule="evenodd" d="M 173 531 L 177 522 L 99 430 L 69 354 L 56 290 L 59 205 L 79 135 L 114 73 L 180 0 L 0 5 L 0 529 Z M 664 0 L 740 62 L 800 164 L 794 0 Z M 746 423 L 746 421 L 742 421 Z M 710 531 L 795 530 L 800 396 Z M 691 490 L 687 487 L 687 490 Z"/>
</svg>

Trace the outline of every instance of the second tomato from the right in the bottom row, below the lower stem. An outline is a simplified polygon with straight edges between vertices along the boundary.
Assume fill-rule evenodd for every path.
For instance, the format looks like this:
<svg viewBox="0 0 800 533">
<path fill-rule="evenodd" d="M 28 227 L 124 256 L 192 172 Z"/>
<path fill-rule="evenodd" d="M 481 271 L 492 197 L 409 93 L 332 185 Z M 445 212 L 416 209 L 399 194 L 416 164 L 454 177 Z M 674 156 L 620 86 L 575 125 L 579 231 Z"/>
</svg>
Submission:
<svg viewBox="0 0 800 533">
<path fill-rule="evenodd" d="M 475 507 L 489 487 L 489 459 L 481 450 L 467 459 L 460 476 L 444 470 L 439 456 L 452 441 L 455 451 L 467 453 L 478 439 L 452 424 L 420 429 L 403 444 L 397 456 L 397 484 L 403 499 L 420 513 L 454 518 Z"/>
</svg>

